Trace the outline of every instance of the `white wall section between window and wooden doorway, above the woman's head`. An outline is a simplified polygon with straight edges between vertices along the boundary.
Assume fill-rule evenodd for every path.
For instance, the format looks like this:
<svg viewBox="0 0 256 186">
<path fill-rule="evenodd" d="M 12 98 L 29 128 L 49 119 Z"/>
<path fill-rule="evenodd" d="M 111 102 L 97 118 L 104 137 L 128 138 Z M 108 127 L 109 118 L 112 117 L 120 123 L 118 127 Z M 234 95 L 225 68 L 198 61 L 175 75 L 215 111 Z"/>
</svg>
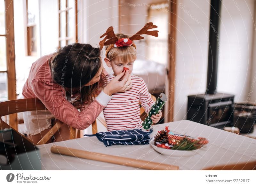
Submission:
<svg viewBox="0 0 256 186">
<path fill-rule="evenodd" d="M 118 0 L 78 0 L 79 42 L 99 44 L 108 27 L 118 30 Z"/>
</svg>

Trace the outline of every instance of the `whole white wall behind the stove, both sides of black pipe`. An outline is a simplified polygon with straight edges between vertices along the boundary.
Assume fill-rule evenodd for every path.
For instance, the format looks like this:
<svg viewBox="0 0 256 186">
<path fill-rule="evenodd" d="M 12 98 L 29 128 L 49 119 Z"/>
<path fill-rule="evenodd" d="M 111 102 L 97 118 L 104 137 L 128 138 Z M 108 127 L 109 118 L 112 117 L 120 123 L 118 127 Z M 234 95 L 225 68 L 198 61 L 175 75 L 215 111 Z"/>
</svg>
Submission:
<svg viewBox="0 0 256 186">
<path fill-rule="evenodd" d="M 254 1 L 222 2 L 217 91 L 235 94 L 235 102 L 245 101 L 252 68 Z M 210 1 L 179 0 L 177 14 L 176 40 L 182 53 L 176 49 L 174 120 L 182 120 L 187 96 L 206 89 Z"/>
</svg>

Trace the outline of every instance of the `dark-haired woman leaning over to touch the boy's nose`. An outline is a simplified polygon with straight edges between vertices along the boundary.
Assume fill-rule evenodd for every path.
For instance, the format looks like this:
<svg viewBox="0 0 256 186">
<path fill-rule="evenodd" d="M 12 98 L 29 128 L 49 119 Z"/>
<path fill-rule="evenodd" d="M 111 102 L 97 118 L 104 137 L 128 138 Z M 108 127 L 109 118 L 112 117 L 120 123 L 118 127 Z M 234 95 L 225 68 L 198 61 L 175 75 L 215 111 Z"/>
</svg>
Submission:
<svg viewBox="0 0 256 186">
<path fill-rule="evenodd" d="M 28 138 L 37 143 L 51 128 L 51 118 L 54 117 L 67 124 L 61 127 L 59 136 L 61 140 L 66 140 L 68 126 L 80 130 L 89 127 L 108 104 L 112 94 L 132 87 L 131 75 L 125 72 L 104 86 L 104 70 L 100 49 L 90 44 L 74 43 L 34 62 L 22 95 L 25 98 L 39 98 L 48 111 L 23 113 L 24 133 Z M 97 93 L 99 95 L 94 99 Z M 81 112 L 71 104 L 80 97 Z M 90 105 L 85 108 L 84 102 Z"/>
</svg>

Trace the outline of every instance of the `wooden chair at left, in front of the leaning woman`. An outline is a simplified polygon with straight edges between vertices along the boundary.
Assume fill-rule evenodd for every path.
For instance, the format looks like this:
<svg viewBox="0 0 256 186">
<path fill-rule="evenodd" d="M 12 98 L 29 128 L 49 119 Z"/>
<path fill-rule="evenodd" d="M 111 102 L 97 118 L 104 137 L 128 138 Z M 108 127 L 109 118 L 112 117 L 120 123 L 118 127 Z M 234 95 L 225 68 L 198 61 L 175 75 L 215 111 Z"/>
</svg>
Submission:
<svg viewBox="0 0 256 186">
<path fill-rule="evenodd" d="M 0 102 L 0 129 L 4 128 L 12 128 L 10 125 L 5 123 L 2 120 L 2 116 L 6 116 L 9 114 L 14 114 L 18 112 L 26 112 L 26 111 L 36 111 L 36 110 L 46 110 L 44 104 L 38 99 L 38 98 L 29 98 L 29 99 L 17 99 L 17 100 L 10 100 L 10 101 L 4 101 Z M 31 143 L 34 145 L 40 145 L 45 144 L 63 125 L 64 123 L 56 120 L 56 124 L 53 125 L 51 130 L 45 134 L 42 139 L 38 143 L 33 143 L 32 140 L 28 139 Z M 76 128 L 69 127 L 70 128 L 70 139 L 76 138 Z M 17 130 L 16 130 L 17 131 Z M 18 131 L 17 131 L 18 132 Z"/>
</svg>

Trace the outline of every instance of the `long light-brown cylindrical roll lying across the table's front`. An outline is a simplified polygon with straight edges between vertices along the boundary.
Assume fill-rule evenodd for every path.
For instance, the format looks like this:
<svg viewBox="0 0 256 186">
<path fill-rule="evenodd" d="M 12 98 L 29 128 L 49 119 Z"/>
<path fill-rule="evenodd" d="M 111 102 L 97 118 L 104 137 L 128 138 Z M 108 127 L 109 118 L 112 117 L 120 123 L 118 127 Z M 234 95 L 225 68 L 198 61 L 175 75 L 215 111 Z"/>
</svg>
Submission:
<svg viewBox="0 0 256 186">
<path fill-rule="evenodd" d="M 77 158 L 91 159 L 96 161 L 114 163 L 118 165 L 125 165 L 149 170 L 179 170 L 178 166 L 156 163 L 152 161 L 137 160 L 132 158 L 124 158 L 120 156 L 112 156 L 108 154 L 77 150 L 61 146 L 52 146 L 51 152 L 55 154 L 74 156 Z"/>
</svg>

